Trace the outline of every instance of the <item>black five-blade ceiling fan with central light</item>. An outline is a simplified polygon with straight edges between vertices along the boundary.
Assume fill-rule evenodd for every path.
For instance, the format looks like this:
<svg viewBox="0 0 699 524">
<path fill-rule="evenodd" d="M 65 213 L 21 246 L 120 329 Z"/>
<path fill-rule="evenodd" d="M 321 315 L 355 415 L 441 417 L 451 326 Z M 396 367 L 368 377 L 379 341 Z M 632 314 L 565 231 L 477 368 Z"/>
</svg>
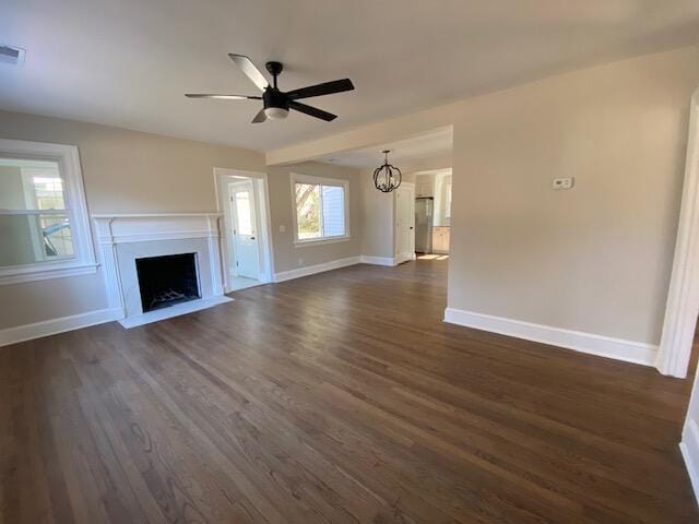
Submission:
<svg viewBox="0 0 699 524">
<path fill-rule="evenodd" d="M 322 84 L 309 85 L 300 90 L 288 92 L 280 91 L 276 86 L 276 78 L 283 71 L 282 62 L 266 62 L 266 70 L 272 75 L 273 83 L 270 84 L 262 75 L 260 70 L 254 67 L 252 60 L 244 55 L 229 53 L 230 60 L 240 68 L 248 79 L 262 92 L 262 96 L 245 96 L 245 95 L 222 95 L 222 94 L 200 94 L 187 93 L 188 98 L 217 98 L 222 100 L 262 100 L 262 109 L 252 119 L 252 123 L 260 123 L 270 120 L 279 120 L 288 116 L 289 109 L 304 112 L 311 117 L 320 118 L 330 122 L 337 118 L 332 112 L 323 111 L 317 107 L 308 106 L 297 102 L 301 98 L 310 98 L 311 96 L 332 95 L 333 93 L 342 93 L 344 91 L 354 90 L 354 85 L 350 79 L 333 80 Z"/>
</svg>

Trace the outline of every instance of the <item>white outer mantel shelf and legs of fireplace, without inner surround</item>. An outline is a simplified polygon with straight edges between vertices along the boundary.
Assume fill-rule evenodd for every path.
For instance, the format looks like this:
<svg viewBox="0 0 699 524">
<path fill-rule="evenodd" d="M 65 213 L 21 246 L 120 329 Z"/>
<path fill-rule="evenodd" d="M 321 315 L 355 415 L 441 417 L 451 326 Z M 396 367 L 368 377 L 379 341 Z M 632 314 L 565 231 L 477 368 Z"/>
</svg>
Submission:
<svg viewBox="0 0 699 524">
<path fill-rule="evenodd" d="M 109 308 L 121 311 L 122 319 L 128 317 L 122 275 L 119 270 L 118 246 L 134 242 L 205 239 L 209 253 L 206 262 L 211 278 L 211 296 L 222 296 L 223 275 L 218 233 L 221 216 L 220 213 L 92 215 Z M 181 249 L 176 249 L 171 254 L 178 252 L 181 252 Z M 199 264 L 203 262 L 201 259 L 198 261 Z M 199 272 L 200 281 L 202 273 Z M 200 282 L 201 287 L 203 284 Z M 211 298 L 211 296 L 202 298 Z"/>
</svg>

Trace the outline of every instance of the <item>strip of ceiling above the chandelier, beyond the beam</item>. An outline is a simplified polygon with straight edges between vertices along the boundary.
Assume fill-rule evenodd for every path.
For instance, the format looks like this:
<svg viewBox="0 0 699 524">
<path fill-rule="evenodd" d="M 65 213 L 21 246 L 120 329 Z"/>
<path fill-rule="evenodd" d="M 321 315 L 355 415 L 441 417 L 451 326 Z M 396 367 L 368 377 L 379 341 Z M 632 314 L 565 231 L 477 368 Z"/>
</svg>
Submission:
<svg viewBox="0 0 699 524">
<path fill-rule="evenodd" d="M 452 148 L 452 128 L 448 127 L 388 144 L 321 156 L 316 160 L 346 167 L 378 167 L 383 163 L 383 153 L 381 152 L 390 150 L 389 162 L 398 165 L 449 153 Z"/>
</svg>

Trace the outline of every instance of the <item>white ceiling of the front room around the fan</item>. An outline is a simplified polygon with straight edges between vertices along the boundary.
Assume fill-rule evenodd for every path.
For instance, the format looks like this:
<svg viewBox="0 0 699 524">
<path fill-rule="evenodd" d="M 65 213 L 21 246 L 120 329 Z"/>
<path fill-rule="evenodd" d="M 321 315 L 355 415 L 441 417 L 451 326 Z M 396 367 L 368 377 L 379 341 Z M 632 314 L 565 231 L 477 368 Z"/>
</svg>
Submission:
<svg viewBox="0 0 699 524">
<path fill-rule="evenodd" d="M 697 0 L 22 0 L 1 10 L 0 44 L 27 52 L 0 63 L 0 108 L 270 150 L 697 35 Z M 312 102 L 331 123 L 186 99 L 254 93 L 228 52 L 283 61 L 283 90 L 356 91 Z"/>
</svg>

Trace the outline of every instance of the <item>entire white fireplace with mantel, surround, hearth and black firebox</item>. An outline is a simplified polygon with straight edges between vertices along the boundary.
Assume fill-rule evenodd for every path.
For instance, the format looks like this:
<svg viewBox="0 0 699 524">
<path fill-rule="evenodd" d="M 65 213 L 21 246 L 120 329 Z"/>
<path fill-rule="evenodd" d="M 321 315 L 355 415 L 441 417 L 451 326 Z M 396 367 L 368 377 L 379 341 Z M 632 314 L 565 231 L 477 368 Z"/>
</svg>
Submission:
<svg viewBox="0 0 699 524">
<path fill-rule="evenodd" d="M 123 327 L 158 322 L 233 300 L 223 295 L 221 282 L 221 215 L 112 214 L 93 215 L 93 219 L 109 309 Z M 154 270 L 153 264 L 158 269 Z M 176 286 L 164 285 L 162 277 L 165 276 L 166 283 L 175 281 Z M 153 300 L 158 289 L 170 288 L 177 294 Z"/>
</svg>

